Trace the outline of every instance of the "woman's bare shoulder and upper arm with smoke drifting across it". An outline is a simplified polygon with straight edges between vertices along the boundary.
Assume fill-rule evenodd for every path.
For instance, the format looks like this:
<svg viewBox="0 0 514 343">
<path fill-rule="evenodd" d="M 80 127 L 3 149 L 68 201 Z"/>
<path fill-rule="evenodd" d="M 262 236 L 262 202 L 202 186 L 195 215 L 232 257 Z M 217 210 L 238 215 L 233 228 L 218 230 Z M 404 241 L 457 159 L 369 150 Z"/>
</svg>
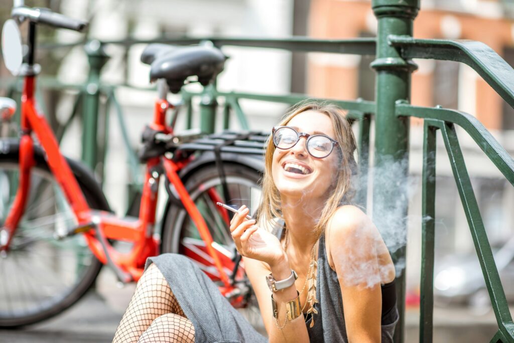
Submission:
<svg viewBox="0 0 514 343">
<path fill-rule="evenodd" d="M 394 265 L 373 222 L 355 206 L 342 206 L 327 228 L 350 342 L 380 342 L 380 284 L 394 279 Z"/>
</svg>

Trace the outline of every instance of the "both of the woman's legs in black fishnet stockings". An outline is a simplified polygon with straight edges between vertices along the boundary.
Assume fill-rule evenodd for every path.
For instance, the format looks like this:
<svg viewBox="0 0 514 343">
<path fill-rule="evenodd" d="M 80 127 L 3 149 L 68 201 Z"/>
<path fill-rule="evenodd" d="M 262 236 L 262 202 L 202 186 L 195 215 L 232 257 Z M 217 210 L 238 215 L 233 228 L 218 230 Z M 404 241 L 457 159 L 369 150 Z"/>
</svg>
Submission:
<svg viewBox="0 0 514 343">
<path fill-rule="evenodd" d="M 194 342 L 193 323 L 155 264 L 139 279 L 113 339 L 113 343 L 150 341 Z"/>
</svg>

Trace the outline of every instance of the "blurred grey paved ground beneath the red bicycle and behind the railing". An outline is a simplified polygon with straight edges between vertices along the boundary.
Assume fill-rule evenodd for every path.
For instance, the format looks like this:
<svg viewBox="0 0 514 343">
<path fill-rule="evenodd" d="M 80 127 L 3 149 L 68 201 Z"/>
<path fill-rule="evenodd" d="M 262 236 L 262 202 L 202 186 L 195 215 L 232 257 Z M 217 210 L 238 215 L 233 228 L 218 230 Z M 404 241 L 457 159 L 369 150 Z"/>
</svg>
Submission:
<svg viewBox="0 0 514 343">
<path fill-rule="evenodd" d="M 118 288 L 113 274 L 104 269 L 97 288 L 62 315 L 24 330 L 0 330 L 4 343 L 96 343 L 110 342 L 135 285 Z M 511 313 L 514 309 L 511 308 Z M 419 341 L 417 309 L 406 317 L 406 342 Z M 498 330 L 492 311 L 476 313 L 467 309 L 434 310 L 434 342 L 489 341 Z"/>
</svg>

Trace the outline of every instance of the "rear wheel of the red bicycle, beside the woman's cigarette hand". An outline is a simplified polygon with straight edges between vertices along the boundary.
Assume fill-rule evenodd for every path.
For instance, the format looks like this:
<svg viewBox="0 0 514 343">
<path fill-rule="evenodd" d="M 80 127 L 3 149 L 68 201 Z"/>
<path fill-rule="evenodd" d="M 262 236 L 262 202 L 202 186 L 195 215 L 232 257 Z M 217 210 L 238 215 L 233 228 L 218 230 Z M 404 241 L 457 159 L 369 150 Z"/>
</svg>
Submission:
<svg viewBox="0 0 514 343">
<path fill-rule="evenodd" d="M 260 173 L 258 170 L 235 163 L 224 163 L 223 166 L 226 173 L 229 199 L 222 201 L 237 206 L 245 204 L 250 208 L 250 214 L 253 214 L 261 200 Z M 209 165 L 199 169 L 187 179 L 185 185 L 192 200 L 204 217 L 214 242 L 219 244 L 218 251 L 224 252 L 220 256 L 225 261 L 233 258 L 235 246 L 229 227 L 212 198 L 213 190 L 219 197 L 224 198 L 223 187 L 216 166 Z M 192 258 L 214 282 L 219 281 L 218 272 L 206 253 L 205 243 L 200 238 L 196 225 L 189 218 L 185 209 L 171 205 L 165 214 L 162 250 L 163 252 L 179 253 Z M 242 295 L 244 301 L 240 304 L 241 308 L 238 308 L 238 310 L 255 329 L 265 334 L 261 312 L 246 275 L 242 272 L 238 273 L 235 281 L 243 284 Z"/>
</svg>

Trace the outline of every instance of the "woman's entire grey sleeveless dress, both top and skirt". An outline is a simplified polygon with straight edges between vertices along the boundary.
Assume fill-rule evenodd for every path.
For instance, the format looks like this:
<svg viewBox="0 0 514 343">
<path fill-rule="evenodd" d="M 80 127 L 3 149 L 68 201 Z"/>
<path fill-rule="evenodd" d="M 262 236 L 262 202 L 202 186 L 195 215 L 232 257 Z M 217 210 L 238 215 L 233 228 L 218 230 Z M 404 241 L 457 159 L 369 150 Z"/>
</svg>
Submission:
<svg viewBox="0 0 514 343">
<path fill-rule="evenodd" d="M 282 235 L 277 228 L 274 234 Z M 146 267 L 155 263 L 168 281 L 180 307 L 192 321 L 195 328 L 195 342 L 266 342 L 248 321 L 235 310 L 217 286 L 189 258 L 177 254 L 162 254 L 146 261 Z M 343 316 L 343 301 L 337 274 L 326 257 L 325 237 L 320 238 L 317 274 L 317 298 L 315 305 L 318 314 L 314 315 L 315 325 L 309 328 L 311 319 L 306 321 L 310 342 L 347 342 Z M 392 343 L 393 333 L 398 322 L 396 307 L 382 319 L 382 342 Z"/>
</svg>

